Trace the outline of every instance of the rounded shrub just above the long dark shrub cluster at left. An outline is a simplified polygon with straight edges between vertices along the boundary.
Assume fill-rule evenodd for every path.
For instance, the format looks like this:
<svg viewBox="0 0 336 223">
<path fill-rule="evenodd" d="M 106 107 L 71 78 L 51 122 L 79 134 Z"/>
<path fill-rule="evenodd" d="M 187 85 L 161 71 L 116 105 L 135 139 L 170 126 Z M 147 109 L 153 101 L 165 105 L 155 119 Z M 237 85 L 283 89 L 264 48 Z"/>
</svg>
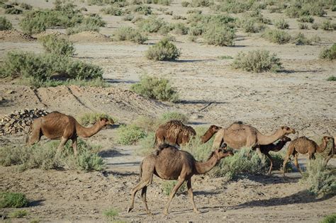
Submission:
<svg viewBox="0 0 336 223">
<path fill-rule="evenodd" d="M 40 38 L 46 52 L 57 56 L 71 56 L 74 54 L 74 44 L 65 38 L 57 37 L 56 35 L 45 35 Z"/>
</svg>

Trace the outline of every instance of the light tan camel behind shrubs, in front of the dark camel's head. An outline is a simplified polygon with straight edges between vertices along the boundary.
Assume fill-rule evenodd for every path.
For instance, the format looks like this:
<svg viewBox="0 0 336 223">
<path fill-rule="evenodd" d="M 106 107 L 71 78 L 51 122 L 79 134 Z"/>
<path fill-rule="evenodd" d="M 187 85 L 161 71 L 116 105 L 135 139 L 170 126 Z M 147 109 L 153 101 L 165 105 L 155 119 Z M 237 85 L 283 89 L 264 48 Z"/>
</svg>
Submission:
<svg viewBox="0 0 336 223">
<path fill-rule="evenodd" d="M 271 144 L 291 133 L 295 133 L 295 130 L 283 126 L 279 130 L 276 130 L 273 135 L 262 135 L 255 127 L 242 124 L 242 122 L 235 122 L 228 128 L 218 130 L 213 141 L 213 149 L 219 148 L 223 142 L 233 149 L 240 149 L 242 147 L 259 149 L 260 145 Z"/>
</svg>

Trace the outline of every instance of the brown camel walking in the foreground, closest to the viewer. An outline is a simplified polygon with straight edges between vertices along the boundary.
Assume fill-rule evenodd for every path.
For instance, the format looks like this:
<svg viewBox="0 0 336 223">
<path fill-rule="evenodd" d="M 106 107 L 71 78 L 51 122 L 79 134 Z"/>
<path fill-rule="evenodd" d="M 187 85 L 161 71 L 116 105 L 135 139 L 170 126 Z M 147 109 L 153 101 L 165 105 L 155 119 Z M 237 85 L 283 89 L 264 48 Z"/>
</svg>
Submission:
<svg viewBox="0 0 336 223">
<path fill-rule="evenodd" d="M 209 157 L 208 161 L 198 162 L 194 156 L 186 151 L 172 147 L 169 144 L 161 144 L 158 155 L 149 155 L 142 160 L 140 164 L 140 182 L 135 185 L 131 192 L 130 206 L 128 212 L 134 207 L 134 198 L 138 190 L 142 189 L 141 198 L 145 204 L 145 209 L 148 215 L 152 215 L 147 207 L 146 192 L 147 186 L 152 183 L 153 174 L 164 180 L 178 180 L 177 184 L 170 193 L 167 206 L 164 209 L 164 215 L 168 214 L 169 204 L 174 198 L 175 193 L 181 187 L 182 183 L 186 181 L 189 198 L 193 205 L 194 212 L 199 213 L 195 202 L 194 194 L 191 188 L 191 177 L 194 174 L 203 174 L 211 170 L 215 164 L 218 164 L 220 159 L 226 156 L 233 156 L 232 151 L 225 151 L 225 149 L 215 149 Z"/>
</svg>

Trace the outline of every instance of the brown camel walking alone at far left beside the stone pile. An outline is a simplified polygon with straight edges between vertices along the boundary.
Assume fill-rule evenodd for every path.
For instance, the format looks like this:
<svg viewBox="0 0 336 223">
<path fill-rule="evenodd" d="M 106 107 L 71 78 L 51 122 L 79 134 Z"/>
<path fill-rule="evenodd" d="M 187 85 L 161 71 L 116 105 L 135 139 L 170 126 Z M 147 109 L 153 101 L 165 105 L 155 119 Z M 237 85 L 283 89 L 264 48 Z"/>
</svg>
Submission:
<svg viewBox="0 0 336 223">
<path fill-rule="evenodd" d="M 57 149 L 57 152 L 60 152 L 67 141 L 72 139 L 74 155 L 77 156 L 78 136 L 91 137 L 99 132 L 104 126 L 113 124 L 113 120 L 101 118 L 92 127 L 82 127 L 82 125 L 79 125 L 77 120 L 72 116 L 54 111 L 33 121 L 33 124 L 30 125 L 32 135 L 29 140 L 27 136 L 26 141 L 28 142 L 28 145 L 32 145 L 39 142 L 43 135 L 49 139 L 61 138 L 60 146 Z"/>
</svg>

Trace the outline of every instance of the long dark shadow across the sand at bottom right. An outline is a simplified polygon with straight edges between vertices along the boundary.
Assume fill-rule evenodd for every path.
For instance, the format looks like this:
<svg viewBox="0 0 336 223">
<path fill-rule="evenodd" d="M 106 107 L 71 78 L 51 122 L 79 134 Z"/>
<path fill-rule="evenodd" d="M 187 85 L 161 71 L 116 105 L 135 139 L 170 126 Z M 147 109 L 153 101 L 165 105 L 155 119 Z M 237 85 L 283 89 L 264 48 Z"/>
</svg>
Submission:
<svg viewBox="0 0 336 223">
<path fill-rule="evenodd" d="M 314 195 L 311 195 L 308 190 L 301 190 L 293 195 L 286 196 L 284 198 L 271 198 L 268 200 L 252 200 L 249 202 L 242 203 L 231 207 L 233 210 L 242 209 L 245 207 L 271 207 L 271 206 L 281 206 L 281 205 L 292 205 L 292 204 L 307 204 L 320 202 L 323 200 L 329 200 L 333 195 L 325 196 L 320 199 L 316 199 Z"/>
</svg>

